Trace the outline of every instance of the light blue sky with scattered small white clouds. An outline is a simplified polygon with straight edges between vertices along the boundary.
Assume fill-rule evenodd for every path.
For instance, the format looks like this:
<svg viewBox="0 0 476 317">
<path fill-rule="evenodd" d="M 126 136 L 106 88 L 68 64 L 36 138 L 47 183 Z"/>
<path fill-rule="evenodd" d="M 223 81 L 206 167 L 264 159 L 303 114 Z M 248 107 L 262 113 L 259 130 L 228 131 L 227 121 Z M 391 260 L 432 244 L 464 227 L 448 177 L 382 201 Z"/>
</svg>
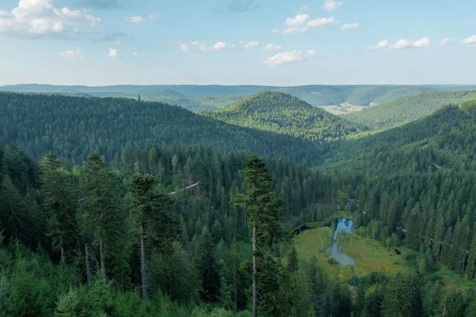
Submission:
<svg viewBox="0 0 476 317">
<path fill-rule="evenodd" d="M 476 84 L 474 0 L 0 0 L 0 85 Z"/>
</svg>

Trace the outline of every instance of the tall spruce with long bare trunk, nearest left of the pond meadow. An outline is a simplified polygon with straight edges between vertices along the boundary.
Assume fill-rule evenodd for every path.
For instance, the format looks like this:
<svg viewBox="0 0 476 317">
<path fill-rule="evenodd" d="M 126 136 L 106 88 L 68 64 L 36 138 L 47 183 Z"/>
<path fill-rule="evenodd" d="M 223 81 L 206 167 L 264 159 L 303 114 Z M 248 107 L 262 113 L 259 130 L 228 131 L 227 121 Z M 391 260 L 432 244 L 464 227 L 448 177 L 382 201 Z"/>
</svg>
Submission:
<svg viewBox="0 0 476 317">
<path fill-rule="evenodd" d="M 245 206 L 249 218 L 253 243 L 253 317 L 258 316 L 258 261 L 262 258 L 263 247 L 270 247 L 283 236 L 278 224 L 283 211 L 279 208 L 282 199 L 275 198 L 271 188 L 271 175 L 262 158 L 251 155 L 245 161 L 246 168 L 240 171 L 245 180 L 246 194 L 238 193 L 231 201 L 235 206 Z M 261 294 L 263 296 L 263 294 Z"/>
</svg>

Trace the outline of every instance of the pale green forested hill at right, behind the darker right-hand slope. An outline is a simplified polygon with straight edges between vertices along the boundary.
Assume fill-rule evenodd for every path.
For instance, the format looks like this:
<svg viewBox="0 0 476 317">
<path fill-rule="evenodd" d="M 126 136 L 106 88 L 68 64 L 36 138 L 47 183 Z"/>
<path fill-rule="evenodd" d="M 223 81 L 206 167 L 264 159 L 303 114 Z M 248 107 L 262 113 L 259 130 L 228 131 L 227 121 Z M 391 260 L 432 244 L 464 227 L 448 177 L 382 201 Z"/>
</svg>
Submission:
<svg viewBox="0 0 476 317">
<path fill-rule="evenodd" d="M 443 105 L 475 98 L 476 90 L 425 92 L 417 96 L 400 97 L 341 117 L 373 129 L 386 129 L 416 120 Z"/>
</svg>

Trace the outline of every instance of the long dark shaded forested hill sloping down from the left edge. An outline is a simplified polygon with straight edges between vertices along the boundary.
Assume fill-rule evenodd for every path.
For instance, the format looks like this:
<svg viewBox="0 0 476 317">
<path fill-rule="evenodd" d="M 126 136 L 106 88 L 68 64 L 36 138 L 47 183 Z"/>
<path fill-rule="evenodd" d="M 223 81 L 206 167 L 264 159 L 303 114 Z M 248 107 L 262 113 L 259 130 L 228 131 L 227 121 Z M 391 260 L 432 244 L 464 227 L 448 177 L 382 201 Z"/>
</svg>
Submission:
<svg viewBox="0 0 476 317">
<path fill-rule="evenodd" d="M 157 102 L 126 98 L 0 93 L 0 138 L 33 158 L 52 151 L 81 163 L 94 150 L 111 161 L 128 142 L 201 143 L 223 151 L 247 149 L 268 157 L 317 163 L 317 143 L 238 127 Z"/>
</svg>

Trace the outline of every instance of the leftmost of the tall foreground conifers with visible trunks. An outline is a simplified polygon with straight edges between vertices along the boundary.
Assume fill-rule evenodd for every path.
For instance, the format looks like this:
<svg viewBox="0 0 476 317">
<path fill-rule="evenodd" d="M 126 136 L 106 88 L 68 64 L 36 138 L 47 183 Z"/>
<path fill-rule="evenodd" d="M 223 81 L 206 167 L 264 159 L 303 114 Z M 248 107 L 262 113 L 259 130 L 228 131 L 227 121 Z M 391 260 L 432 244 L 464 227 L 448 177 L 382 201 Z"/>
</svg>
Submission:
<svg viewBox="0 0 476 317">
<path fill-rule="evenodd" d="M 66 253 L 76 245 L 76 203 L 69 189 L 68 172 L 54 154 L 46 154 L 41 162 L 41 192 L 45 196 L 43 206 L 48 213 L 49 235 L 53 237 L 53 247 L 60 248 L 61 261 L 66 261 Z M 66 250 L 65 250 L 66 248 Z"/>
</svg>

